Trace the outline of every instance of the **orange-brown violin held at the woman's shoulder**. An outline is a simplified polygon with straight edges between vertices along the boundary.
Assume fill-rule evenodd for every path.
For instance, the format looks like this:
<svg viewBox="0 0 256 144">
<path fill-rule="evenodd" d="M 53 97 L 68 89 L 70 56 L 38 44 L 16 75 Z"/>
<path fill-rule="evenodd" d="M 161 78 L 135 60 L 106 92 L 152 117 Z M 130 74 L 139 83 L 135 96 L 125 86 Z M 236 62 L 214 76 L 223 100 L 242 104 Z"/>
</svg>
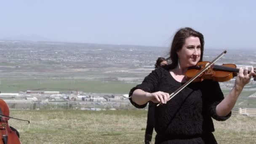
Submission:
<svg viewBox="0 0 256 144">
<path fill-rule="evenodd" d="M 209 61 L 200 61 L 197 63 L 194 67 L 189 67 L 187 72 L 185 73 L 185 76 L 187 79 L 191 79 L 195 75 L 197 75 L 198 72 L 200 72 L 203 68 L 205 68 L 208 64 L 210 64 Z M 253 69 L 254 73 L 255 68 Z M 231 80 L 233 77 L 237 76 L 237 73 L 239 72 L 239 69 L 236 68 L 235 64 L 222 64 L 220 65 L 211 65 L 205 72 L 203 72 L 201 75 L 199 75 L 193 82 L 203 81 L 203 80 L 213 80 L 218 82 L 225 82 Z M 251 72 L 251 69 L 248 69 L 248 73 Z M 256 80 L 256 77 L 253 78 Z"/>
</svg>

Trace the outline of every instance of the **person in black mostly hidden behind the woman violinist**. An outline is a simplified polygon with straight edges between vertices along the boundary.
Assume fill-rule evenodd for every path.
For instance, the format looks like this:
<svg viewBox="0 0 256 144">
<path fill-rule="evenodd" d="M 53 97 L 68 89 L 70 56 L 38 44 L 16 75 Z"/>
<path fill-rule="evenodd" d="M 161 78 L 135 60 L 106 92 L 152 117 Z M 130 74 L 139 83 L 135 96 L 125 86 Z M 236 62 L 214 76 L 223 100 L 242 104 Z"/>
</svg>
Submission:
<svg viewBox="0 0 256 144">
<path fill-rule="evenodd" d="M 167 64 L 167 61 L 163 57 L 157 58 L 157 61 L 155 63 L 155 69 L 158 67 L 163 67 Z M 155 124 L 155 103 L 152 101 L 149 101 L 149 108 L 147 113 L 147 127 L 145 131 L 145 144 L 150 144 L 152 140 L 152 133 L 154 130 L 154 124 Z"/>
</svg>

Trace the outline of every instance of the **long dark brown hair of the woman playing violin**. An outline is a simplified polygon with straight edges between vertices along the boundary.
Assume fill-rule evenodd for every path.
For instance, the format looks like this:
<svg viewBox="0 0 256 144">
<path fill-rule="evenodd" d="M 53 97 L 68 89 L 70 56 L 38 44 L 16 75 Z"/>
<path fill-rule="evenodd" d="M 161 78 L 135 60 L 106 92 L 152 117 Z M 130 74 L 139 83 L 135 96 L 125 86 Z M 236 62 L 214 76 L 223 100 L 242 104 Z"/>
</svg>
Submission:
<svg viewBox="0 0 256 144">
<path fill-rule="evenodd" d="M 188 37 L 198 37 L 201 44 L 201 56 L 200 61 L 203 59 L 203 48 L 204 48 L 204 39 L 203 35 L 200 32 L 195 31 L 190 27 L 185 27 L 179 29 L 173 37 L 173 42 L 171 43 L 171 50 L 169 52 L 169 59 L 171 59 L 171 64 L 168 65 L 168 69 L 174 69 L 178 65 L 178 55 L 177 51 L 180 51 L 182 46 L 185 43 L 186 38 Z"/>
</svg>

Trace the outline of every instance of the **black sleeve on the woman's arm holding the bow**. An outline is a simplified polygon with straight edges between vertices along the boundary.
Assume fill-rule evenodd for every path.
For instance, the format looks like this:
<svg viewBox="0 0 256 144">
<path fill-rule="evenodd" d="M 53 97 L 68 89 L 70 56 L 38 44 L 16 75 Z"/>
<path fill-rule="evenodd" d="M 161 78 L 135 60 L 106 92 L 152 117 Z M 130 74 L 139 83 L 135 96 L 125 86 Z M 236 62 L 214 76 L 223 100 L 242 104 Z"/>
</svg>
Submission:
<svg viewBox="0 0 256 144">
<path fill-rule="evenodd" d="M 147 106 L 147 103 L 143 105 L 139 105 L 139 104 L 136 104 L 134 101 L 132 101 L 131 96 L 133 94 L 133 91 L 135 91 L 136 89 L 141 89 L 142 91 L 149 92 L 149 93 L 155 92 L 158 86 L 158 80 L 160 79 L 160 75 L 161 75 L 160 69 L 155 69 L 147 77 L 144 78 L 141 84 L 131 89 L 129 93 L 129 100 L 131 101 L 131 104 L 134 107 L 144 108 Z"/>
</svg>

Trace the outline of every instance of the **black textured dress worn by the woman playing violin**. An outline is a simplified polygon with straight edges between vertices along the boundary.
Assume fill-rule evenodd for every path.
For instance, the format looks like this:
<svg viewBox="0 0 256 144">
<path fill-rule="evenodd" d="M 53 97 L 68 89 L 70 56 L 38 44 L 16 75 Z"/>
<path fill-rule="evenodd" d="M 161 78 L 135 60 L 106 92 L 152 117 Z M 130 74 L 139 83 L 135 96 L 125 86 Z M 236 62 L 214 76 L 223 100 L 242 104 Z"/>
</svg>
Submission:
<svg viewBox="0 0 256 144">
<path fill-rule="evenodd" d="M 138 105 L 131 100 L 136 89 L 171 94 L 182 84 L 168 70 L 157 68 L 140 85 L 131 89 L 129 99 L 135 107 L 144 108 L 147 104 Z M 204 80 L 190 83 L 167 104 L 155 107 L 155 144 L 216 144 L 211 117 L 224 121 L 231 116 L 231 112 L 225 117 L 216 115 L 216 106 L 223 99 L 218 82 Z"/>
</svg>

